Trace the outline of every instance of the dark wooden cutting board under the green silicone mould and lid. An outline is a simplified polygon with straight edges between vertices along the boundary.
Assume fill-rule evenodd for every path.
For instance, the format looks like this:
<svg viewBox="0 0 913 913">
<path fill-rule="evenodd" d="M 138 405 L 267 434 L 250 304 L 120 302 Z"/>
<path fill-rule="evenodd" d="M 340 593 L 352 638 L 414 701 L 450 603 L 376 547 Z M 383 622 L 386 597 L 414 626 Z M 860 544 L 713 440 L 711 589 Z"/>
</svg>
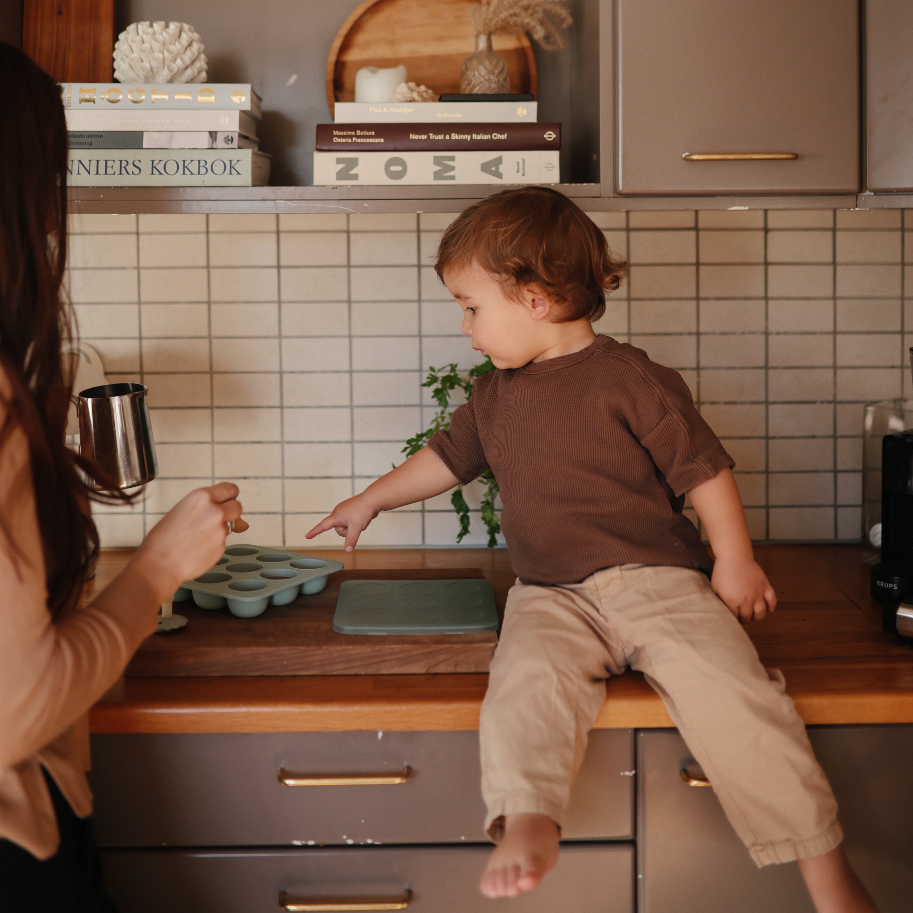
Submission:
<svg viewBox="0 0 913 913">
<path fill-rule="evenodd" d="M 488 672 L 498 635 L 341 635 L 332 629 L 342 582 L 480 578 L 477 568 L 340 571 L 326 589 L 270 606 L 258 618 L 227 609 L 207 611 L 174 603 L 188 623 L 176 634 L 152 635 L 140 645 L 125 675 L 351 676 Z"/>
</svg>

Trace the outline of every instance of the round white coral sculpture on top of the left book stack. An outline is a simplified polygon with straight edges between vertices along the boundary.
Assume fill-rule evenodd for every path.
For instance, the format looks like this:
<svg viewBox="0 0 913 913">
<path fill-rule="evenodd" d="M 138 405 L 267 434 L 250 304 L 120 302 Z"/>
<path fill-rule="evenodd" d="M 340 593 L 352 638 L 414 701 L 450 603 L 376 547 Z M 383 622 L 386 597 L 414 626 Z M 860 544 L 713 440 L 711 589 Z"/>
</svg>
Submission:
<svg viewBox="0 0 913 913">
<path fill-rule="evenodd" d="M 185 22 L 134 22 L 114 46 L 119 82 L 205 82 L 206 55 L 194 26 Z"/>
</svg>

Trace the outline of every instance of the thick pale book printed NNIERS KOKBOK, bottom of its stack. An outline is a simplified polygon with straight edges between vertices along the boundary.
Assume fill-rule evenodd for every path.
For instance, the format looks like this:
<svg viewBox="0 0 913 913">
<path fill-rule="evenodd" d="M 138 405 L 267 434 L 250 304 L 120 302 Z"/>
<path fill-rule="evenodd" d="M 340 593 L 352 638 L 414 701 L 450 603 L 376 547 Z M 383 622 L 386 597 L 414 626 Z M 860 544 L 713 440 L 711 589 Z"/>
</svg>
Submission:
<svg viewBox="0 0 913 913">
<path fill-rule="evenodd" d="M 70 187 L 257 187 L 269 156 L 250 149 L 71 149 Z"/>
</svg>

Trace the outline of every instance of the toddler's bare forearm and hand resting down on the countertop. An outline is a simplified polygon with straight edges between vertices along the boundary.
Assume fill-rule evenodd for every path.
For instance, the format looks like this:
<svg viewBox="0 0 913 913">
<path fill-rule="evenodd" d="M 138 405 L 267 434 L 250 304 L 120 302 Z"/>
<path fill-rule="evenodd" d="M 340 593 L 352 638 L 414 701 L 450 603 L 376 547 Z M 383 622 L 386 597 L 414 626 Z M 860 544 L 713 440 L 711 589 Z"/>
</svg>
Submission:
<svg viewBox="0 0 913 913">
<path fill-rule="evenodd" d="M 740 621 L 758 621 L 777 607 L 777 596 L 754 560 L 745 510 L 731 469 L 701 482 L 688 497 L 707 530 L 716 561 L 714 592 Z"/>
</svg>

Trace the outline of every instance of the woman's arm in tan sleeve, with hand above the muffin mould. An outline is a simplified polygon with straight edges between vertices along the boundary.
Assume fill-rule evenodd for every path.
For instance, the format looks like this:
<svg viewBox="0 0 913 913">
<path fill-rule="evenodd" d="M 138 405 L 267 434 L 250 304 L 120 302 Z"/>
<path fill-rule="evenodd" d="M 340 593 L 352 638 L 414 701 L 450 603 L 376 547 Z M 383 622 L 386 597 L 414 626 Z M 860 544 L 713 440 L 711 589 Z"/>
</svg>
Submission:
<svg viewBox="0 0 913 913">
<path fill-rule="evenodd" d="M 56 739 L 104 694 L 152 634 L 164 600 L 218 561 L 226 521 L 241 513 L 230 483 L 192 492 L 110 586 L 55 619 L 29 463 L 26 436 L 15 428 L 0 449 L 0 509 L 15 538 L 0 533 L 0 769 Z"/>
</svg>

